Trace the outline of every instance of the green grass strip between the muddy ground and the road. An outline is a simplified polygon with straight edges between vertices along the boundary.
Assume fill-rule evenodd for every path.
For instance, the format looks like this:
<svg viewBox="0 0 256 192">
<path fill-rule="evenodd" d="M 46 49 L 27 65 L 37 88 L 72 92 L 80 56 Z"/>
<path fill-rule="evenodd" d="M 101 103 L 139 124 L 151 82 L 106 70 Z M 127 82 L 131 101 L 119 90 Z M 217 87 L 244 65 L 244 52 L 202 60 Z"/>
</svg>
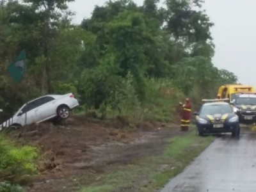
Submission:
<svg viewBox="0 0 256 192">
<path fill-rule="evenodd" d="M 108 173 L 93 176 L 100 180 L 80 191 L 156 191 L 182 172 L 212 140 L 211 136 L 196 136 L 195 131 L 169 139 L 158 155 L 134 159 L 127 165 L 109 166 Z"/>
</svg>

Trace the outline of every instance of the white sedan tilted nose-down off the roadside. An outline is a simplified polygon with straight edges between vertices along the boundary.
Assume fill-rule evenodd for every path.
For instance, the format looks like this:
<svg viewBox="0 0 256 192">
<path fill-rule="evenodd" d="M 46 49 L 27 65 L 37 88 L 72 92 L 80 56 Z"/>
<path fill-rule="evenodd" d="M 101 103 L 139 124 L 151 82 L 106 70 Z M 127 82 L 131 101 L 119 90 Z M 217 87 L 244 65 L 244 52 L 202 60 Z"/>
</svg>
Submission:
<svg viewBox="0 0 256 192">
<path fill-rule="evenodd" d="M 70 116 L 70 111 L 78 105 L 72 93 L 45 95 L 24 104 L 12 118 L 0 125 L 0 131 L 3 127 L 21 127 L 55 117 L 66 119 Z"/>
</svg>

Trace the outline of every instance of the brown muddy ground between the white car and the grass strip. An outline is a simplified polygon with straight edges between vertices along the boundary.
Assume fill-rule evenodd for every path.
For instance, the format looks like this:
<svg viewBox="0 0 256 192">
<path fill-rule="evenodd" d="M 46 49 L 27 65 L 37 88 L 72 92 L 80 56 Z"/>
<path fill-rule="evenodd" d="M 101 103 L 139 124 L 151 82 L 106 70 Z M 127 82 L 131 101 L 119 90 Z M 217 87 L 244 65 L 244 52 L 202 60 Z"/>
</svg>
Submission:
<svg viewBox="0 0 256 192">
<path fill-rule="evenodd" d="M 76 191 L 90 184 L 90 178 L 79 181 L 74 177 L 104 173 L 109 166 L 157 154 L 164 147 L 164 139 L 177 134 L 180 131 L 175 124 L 145 122 L 129 127 L 122 119 L 88 120 L 72 116 L 61 125 L 30 125 L 13 137 L 41 149 L 39 175 L 29 180 L 27 186 L 28 191 L 43 192 Z"/>
</svg>

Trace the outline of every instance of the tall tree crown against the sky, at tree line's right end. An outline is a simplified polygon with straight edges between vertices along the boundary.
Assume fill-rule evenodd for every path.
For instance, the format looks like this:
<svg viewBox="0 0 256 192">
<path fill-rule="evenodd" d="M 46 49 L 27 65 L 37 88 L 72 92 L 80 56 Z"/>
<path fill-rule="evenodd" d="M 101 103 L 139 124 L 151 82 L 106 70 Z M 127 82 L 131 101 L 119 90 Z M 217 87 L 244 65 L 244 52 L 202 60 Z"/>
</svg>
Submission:
<svg viewBox="0 0 256 192">
<path fill-rule="evenodd" d="M 186 51 L 194 52 L 196 44 L 212 45 L 210 28 L 213 26 L 209 17 L 202 10 L 202 1 L 168 0 L 166 1 L 166 29 L 176 42 L 182 42 Z M 195 7 L 198 7 L 195 9 Z"/>
</svg>

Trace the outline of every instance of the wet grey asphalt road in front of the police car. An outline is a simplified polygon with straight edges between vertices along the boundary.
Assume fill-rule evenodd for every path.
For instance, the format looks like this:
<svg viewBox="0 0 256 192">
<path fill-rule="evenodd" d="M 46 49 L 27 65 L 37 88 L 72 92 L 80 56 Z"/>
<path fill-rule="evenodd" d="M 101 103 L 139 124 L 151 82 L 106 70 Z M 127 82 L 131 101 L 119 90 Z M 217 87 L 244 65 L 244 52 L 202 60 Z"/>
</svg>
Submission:
<svg viewBox="0 0 256 192">
<path fill-rule="evenodd" d="M 161 192 L 256 191 L 256 132 L 243 130 L 238 140 L 217 137 Z"/>
</svg>

